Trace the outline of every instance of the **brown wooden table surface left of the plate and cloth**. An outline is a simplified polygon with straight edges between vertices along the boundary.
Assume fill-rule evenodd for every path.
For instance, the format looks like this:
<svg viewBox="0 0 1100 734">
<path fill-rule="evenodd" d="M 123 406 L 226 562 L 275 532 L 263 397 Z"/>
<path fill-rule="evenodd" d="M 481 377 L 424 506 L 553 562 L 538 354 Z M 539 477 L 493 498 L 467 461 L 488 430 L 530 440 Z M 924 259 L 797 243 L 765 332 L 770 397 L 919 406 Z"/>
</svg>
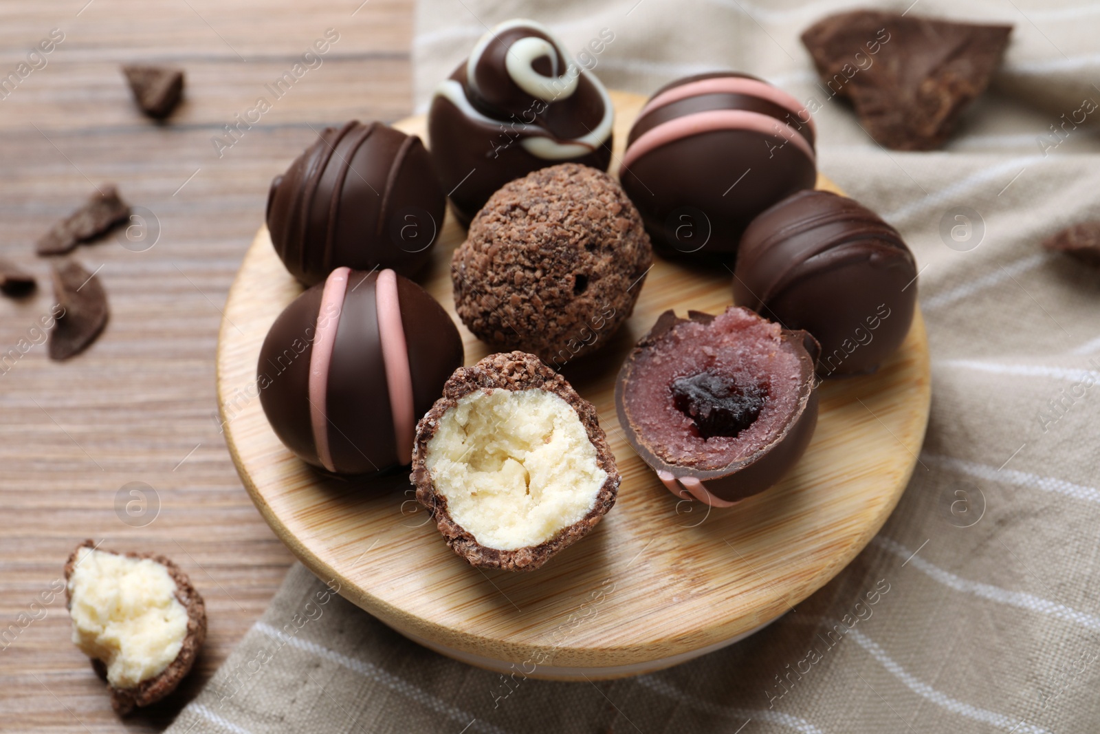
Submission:
<svg viewBox="0 0 1100 734">
<path fill-rule="evenodd" d="M 215 417 L 215 343 L 272 176 L 327 124 L 411 110 L 411 0 L 361 2 L 0 2 L 0 81 L 18 78 L 53 29 L 64 33 L 32 59 L 38 68 L 0 91 L 0 255 L 38 277 L 35 295 L 0 298 L 0 731 L 162 730 L 292 562 L 227 452 Z M 339 40 L 321 65 L 276 99 L 265 85 L 330 28 Z M 120 63 L 146 61 L 187 74 L 167 124 L 135 110 L 119 73 Z M 270 111 L 219 157 L 211 139 L 258 97 Z M 53 304 L 50 263 L 34 241 L 105 182 L 153 223 L 144 241 L 133 232 L 129 249 L 112 233 L 77 250 L 87 270 L 99 269 L 111 318 L 87 352 L 51 362 L 32 330 Z M 157 228 L 155 244 L 138 251 Z M 21 339 L 26 353 L 3 361 Z M 120 497 L 123 506 L 138 499 L 123 489 L 131 482 L 151 487 L 144 514 L 140 504 L 134 515 L 116 510 Z M 69 640 L 64 595 L 51 600 L 85 538 L 172 557 L 207 601 L 197 670 L 167 702 L 127 722 Z"/>
</svg>

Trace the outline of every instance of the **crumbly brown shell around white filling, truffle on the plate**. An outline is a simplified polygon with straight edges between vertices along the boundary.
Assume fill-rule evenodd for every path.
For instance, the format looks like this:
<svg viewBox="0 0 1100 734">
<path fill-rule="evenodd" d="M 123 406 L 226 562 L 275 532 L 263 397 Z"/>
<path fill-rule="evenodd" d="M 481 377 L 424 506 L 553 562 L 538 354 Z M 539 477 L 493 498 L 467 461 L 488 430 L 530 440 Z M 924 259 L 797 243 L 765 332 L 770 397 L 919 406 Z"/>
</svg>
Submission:
<svg viewBox="0 0 1100 734">
<path fill-rule="evenodd" d="M 431 472 L 428 471 L 428 441 L 436 435 L 443 414 L 457 406 L 459 399 L 465 395 L 479 390 L 494 388 L 517 392 L 544 390 L 569 403 L 576 410 L 588 440 L 596 449 L 596 463 L 607 473 L 595 505 L 588 514 L 538 546 L 499 550 L 477 543 L 473 535 L 451 518 L 447 511 L 447 497 L 436 492 Z M 534 571 L 546 563 L 551 556 L 587 535 L 600 523 L 615 504 L 619 473 L 615 467 L 615 456 L 607 445 L 607 437 L 600 427 L 596 408 L 578 395 L 563 376 L 543 364 L 536 355 L 517 351 L 508 354 L 490 354 L 473 366 L 459 368 L 454 371 L 443 386 L 443 396 L 436 401 L 431 410 L 417 424 L 416 443 L 413 447 L 413 473 L 409 480 L 416 485 L 417 502 L 435 513 L 436 525 L 447 545 L 471 566 L 505 571 Z"/>
</svg>

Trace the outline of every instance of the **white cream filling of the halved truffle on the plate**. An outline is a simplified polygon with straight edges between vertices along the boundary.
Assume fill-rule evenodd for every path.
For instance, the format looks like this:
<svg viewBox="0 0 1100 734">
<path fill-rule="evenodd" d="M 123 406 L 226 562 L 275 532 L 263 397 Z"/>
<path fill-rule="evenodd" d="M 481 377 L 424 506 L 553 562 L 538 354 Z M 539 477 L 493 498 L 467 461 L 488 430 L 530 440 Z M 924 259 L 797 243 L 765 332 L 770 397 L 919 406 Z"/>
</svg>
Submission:
<svg viewBox="0 0 1100 734">
<path fill-rule="evenodd" d="M 576 412 L 543 390 L 471 393 L 427 448 L 451 518 L 498 550 L 537 546 L 581 521 L 607 479 Z"/>
</svg>

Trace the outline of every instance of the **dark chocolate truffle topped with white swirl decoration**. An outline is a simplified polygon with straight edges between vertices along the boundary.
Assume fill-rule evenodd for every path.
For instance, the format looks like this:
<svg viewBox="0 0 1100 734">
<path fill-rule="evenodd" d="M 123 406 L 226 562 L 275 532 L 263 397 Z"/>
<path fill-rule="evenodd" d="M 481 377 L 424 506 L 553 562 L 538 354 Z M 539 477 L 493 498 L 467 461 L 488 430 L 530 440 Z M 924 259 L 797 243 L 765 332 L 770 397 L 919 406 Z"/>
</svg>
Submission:
<svg viewBox="0 0 1100 734">
<path fill-rule="evenodd" d="M 606 171 L 614 114 L 600 79 L 544 25 L 505 21 L 436 88 L 431 158 L 468 222 L 493 191 L 537 168 L 574 162 Z"/>
</svg>

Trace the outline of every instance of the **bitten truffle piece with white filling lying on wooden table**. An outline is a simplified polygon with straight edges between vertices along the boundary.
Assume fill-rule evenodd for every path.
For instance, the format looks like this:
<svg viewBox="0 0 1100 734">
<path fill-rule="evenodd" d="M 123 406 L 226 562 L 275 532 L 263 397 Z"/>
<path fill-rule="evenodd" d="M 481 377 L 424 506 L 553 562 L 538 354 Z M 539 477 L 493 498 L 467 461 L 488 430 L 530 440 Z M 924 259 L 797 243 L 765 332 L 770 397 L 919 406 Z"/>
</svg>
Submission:
<svg viewBox="0 0 1100 734">
<path fill-rule="evenodd" d="M 202 596 L 163 556 L 99 550 L 86 540 L 65 563 L 73 642 L 127 715 L 179 684 L 206 639 Z"/>
</svg>

